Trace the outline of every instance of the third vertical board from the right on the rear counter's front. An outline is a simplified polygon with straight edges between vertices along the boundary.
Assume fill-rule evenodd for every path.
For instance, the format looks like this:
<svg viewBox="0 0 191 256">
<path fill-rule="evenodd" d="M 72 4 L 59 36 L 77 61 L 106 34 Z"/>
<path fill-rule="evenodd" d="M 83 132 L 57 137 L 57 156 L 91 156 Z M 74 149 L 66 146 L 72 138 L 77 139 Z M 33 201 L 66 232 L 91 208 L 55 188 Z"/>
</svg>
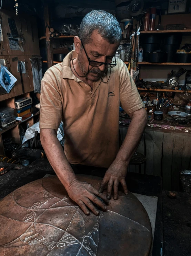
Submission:
<svg viewBox="0 0 191 256">
<path fill-rule="evenodd" d="M 162 188 L 171 190 L 173 133 L 164 133 L 162 153 Z"/>
</svg>

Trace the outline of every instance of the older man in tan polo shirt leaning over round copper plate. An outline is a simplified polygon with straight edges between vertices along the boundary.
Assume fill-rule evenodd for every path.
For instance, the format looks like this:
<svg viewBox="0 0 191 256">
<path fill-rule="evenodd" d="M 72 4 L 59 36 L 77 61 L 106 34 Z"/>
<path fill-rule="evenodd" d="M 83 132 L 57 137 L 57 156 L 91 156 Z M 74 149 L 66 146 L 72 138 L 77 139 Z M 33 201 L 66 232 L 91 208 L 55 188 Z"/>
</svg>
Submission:
<svg viewBox="0 0 191 256">
<path fill-rule="evenodd" d="M 115 17 L 106 11 L 91 11 L 82 20 L 79 37 L 74 37 L 75 51 L 49 68 L 42 79 L 41 142 L 68 195 L 86 214 L 89 209 L 99 214 L 92 202 L 107 209 L 104 202 L 111 197 L 112 188 L 117 199 L 119 182 L 128 194 L 127 167 L 147 122 L 128 69 L 115 58 L 120 41 L 121 28 Z M 131 118 L 120 149 L 119 106 Z M 57 139 L 61 120 L 64 151 Z M 70 164 L 108 168 L 99 191 L 79 181 Z M 105 185 L 107 196 L 101 193 Z"/>
</svg>

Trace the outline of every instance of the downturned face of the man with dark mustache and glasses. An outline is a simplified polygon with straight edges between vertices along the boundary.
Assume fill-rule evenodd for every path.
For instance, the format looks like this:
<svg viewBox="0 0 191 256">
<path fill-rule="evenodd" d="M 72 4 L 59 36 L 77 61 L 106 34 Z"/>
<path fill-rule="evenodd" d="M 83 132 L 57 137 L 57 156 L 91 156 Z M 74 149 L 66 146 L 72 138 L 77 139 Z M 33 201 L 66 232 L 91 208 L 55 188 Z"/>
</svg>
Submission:
<svg viewBox="0 0 191 256">
<path fill-rule="evenodd" d="M 119 43 L 110 44 L 106 39 L 101 37 L 97 31 L 93 31 L 90 43 L 85 44 L 84 48 L 90 60 L 110 63 L 115 55 L 115 52 L 117 51 L 118 46 Z M 91 81 L 98 80 L 107 71 L 104 64 L 100 67 L 93 67 L 89 65 L 89 61 L 82 45 L 78 52 L 78 63 L 84 76 L 88 73 L 89 67 L 89 73 L 87 74 L 86 78 Z"/>
</svg>

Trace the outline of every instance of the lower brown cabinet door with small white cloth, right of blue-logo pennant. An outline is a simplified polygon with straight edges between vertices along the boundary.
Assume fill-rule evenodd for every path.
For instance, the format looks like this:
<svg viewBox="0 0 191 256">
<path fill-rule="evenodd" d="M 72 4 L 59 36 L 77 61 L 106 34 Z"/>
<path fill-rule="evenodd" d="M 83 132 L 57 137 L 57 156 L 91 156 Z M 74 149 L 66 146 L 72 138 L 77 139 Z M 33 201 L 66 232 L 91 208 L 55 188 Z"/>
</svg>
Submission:
<svg viewBox="0 0 191 256">
<path fill-rule="evenodd" d="M 22 80 L 23 80 L 23 87 L 22 88 L 22 82 L 21 82 L 21 74 L 18 72 L 18 60 L 24 61 L 25 62 L 25 67 L 26 67 L 26 73 L 22 73 Z M 10 56 L 10 63 L 11 63 L 11 71 L 14 77 L 17 78 L 17 82 L 15 83 L 14 86 L 14 92 L 15 96 L 21 95 L 23 93 L 31 91 L 30 87 L 30 78 L 29 78 L 29 67 L 28 67 L 28 61 L 27 61 L 27 56 L 16 56 L 16 55 L 11 55 Z"/>
</svg>

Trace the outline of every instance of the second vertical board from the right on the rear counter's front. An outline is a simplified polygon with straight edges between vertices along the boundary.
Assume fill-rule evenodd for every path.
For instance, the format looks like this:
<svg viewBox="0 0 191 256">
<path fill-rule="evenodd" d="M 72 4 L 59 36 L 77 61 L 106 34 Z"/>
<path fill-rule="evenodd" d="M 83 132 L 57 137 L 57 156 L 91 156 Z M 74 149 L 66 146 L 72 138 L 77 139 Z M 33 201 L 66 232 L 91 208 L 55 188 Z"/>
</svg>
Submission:
<svg viewBox="0 0 191 256">
<path fill-rule="evenodd" d="M 172 191 L 179 191 L 180 171 L 182 166 L 182 148 L 184 134 L 174 134 L 173 151 L 172 151 Z"/>
</svg>

